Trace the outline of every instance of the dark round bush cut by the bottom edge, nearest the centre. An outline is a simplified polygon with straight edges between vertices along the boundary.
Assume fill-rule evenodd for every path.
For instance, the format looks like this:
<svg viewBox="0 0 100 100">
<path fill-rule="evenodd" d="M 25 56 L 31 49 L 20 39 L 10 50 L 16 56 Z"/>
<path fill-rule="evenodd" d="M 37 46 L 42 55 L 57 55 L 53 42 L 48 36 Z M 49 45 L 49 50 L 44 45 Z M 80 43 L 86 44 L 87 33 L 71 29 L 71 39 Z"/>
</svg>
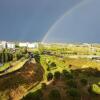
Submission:
<svg viewBox="0 0 100 100">
<path fill-rule="evenodd" d="M 58 90 L 52 90 L 49 94 L 49 100 L 61 100 L 61 95 Z"/>
</svg>

